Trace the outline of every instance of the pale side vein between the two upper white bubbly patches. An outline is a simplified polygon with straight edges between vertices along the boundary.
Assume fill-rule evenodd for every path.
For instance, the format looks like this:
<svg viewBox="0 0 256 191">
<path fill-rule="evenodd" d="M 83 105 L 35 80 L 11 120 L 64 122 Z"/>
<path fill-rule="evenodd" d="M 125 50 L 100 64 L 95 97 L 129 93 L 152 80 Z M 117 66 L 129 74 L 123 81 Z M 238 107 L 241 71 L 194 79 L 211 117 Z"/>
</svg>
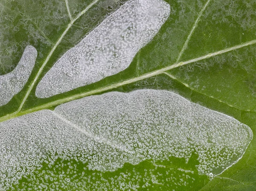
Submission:
<svg viewBox="0 0 256 191">
<path fill-rule="evenodd" d="M 25 97 L 23 98 L 22 102 L 20 103 L 20 107 L 18 108 L 18 110 L 17 110 L 15 113 L 18 113 L 18 112 L 22 109 L 22 107 L 23 107 L 24 103 L 26 102 L 26 100 L 27 100 L 27 98 L 28 98 L 30 92 L 31 92 L 32 89 L 34 88 L 35 83 L 36 83 L 36 81 L 38 80 L 38 77 L 41 75 L 41 73 L 42 73 L 44 67 L 45 67 L 46 64 L 48 63 L 50 57 L 52 56 L 53 52 L 54 52 L 55 49 L 57 48 L 58 44 L 61 42 L 61 40 L 63 39 L 63 37 L 67 34 L 67 31 L 70 29 L 70 27 L 73 25 L 73 23 L 74 23 L 77 19 L 79 19 L 84 13 L 86 13 L 86 11 L 87 11 L 88 9 L 90 9 L 90 8 L 91 8 L 95 3 L 97 3 L 98 1 L 99 1 L 99 0 L 94 0 L 94 1 L 93 1 L 92 3 L 90 3 L 90 5 L 88 5 L 83 11 L 81 11 L 81 12 L 77 15 L 77 17 L 76 17 L 75 19 L 73 19 L 73 20 L 70 21 L 70 23 L 68 24 L 67 28 L 66 28 L 66 29 L 64 30 L 64 32 L 61 34 L 61 36 L 59 37 L 59 39 L 57 40 L 57 42 L 55 43 L 55 45 L 52 47 L 51 51 L 49 52 L 49 54 L 48 54 L 46 60 L 44 61 L 44 63 L 43 63 L 43 65 L 41 66 L 41 68 L 39 69 L 39 71 L 38 71 L 38 73 L 36 74 L 35 78 L 33 79 L 32 83 L 30 84 L 29 89 L 28 89 L 28 91 L 27 91 L 26 94 L 25 94 Z"/>
</svg>

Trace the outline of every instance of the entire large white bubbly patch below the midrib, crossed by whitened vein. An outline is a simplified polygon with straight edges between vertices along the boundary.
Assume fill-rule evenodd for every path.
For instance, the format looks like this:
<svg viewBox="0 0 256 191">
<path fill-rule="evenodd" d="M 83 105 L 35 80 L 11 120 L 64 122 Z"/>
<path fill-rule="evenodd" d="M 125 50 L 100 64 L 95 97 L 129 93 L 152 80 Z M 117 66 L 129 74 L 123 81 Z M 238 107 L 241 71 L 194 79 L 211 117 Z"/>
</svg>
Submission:
<svg viewBox="0 0 256 191">
<path fill-rule="evenodd" d="M 0 186 L 43 162 L 78 156 L 89 169 L 115 171 L 125 162 L 188 161 L 196 153 L 199 173 L 214 177 L 242 157 L 252 137 L 247 125 L 169 91 L 90 96 L 0 123 Z"/>
</svg>

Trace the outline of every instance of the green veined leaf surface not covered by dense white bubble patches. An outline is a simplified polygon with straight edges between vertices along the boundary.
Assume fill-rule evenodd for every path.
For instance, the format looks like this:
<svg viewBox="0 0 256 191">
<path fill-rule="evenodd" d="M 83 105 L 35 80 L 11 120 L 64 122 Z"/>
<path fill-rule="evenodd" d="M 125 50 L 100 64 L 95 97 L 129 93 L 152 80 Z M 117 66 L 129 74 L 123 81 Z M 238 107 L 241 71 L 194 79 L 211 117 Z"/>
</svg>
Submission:
<svg viewBox="0 0 256 191">
<path fill-rule="evenodd" d="M 128 68 L 87 86 L 40 99 L 38 83 L 54 63 L 126 0 L 0 0 L 0 75 L 20 61 L 26 46 L 38 51 L 24 88 L 0 107 L 7 121 L 90 95 L 139 89 L 172 91 L 234 117 L 256 132 L 256 2 L 166 0 L 170 15 Z M 0 92 L 1 93 L 1 92 Z M 238 137 L 239 139 L 239 137 Z M 2 149 L 2 148 L 1 148 Z M 198 154 L 138 164 L 115 171 L 91 169 L 82 159 L 44 162 L 9 190 L 256 190 L 256 138 L 241 159 L 212 180 L 198 173 Z M 1 163 L 0 159 L 0 163 Z"/>
</svg>

